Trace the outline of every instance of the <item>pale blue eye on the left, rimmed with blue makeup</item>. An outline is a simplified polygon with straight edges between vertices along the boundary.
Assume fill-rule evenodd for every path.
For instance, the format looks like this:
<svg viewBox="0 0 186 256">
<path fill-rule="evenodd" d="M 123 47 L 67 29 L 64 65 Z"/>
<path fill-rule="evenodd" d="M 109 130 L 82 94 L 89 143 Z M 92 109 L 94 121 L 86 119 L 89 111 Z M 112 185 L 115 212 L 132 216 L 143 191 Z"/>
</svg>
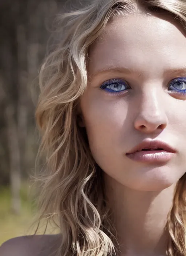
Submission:
<svg viewBox="0 0 186 256">
<path fill-rule="evenodd" d="M 104 82 L 100 88 L 102 90 L 106 90 L 108 92 L 113 92 L 113 93 L 119 93 L 119 92 L 122 92 L 122 91 L 125 91 L 126 89 L 129 89 L 129 85 L 127 83 L 125 83 L 124 80 L 122 79 L 118 79 L 118 78 L 115 78 L 115 79 L 111 79 L 111 80 L 108 80 L 106 82 Z"/>
</svg>

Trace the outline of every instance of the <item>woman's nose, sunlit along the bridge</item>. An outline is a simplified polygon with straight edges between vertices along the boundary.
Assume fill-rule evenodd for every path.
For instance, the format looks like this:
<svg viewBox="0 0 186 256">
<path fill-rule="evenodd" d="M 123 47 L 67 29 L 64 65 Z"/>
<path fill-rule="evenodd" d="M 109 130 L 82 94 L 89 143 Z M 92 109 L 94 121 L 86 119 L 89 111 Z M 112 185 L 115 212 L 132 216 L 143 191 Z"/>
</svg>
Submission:
<svg viewBox="0 0 186 256">
<path fill-rule="evenodd" d="M 163 102 L 158 92 L 143 93 L 140 104 L 137 104 L 134 128 L 143 133 L 153 133 L 165 129 L 168 124 L 165 106 L 165 99 Z"/>
</svg>

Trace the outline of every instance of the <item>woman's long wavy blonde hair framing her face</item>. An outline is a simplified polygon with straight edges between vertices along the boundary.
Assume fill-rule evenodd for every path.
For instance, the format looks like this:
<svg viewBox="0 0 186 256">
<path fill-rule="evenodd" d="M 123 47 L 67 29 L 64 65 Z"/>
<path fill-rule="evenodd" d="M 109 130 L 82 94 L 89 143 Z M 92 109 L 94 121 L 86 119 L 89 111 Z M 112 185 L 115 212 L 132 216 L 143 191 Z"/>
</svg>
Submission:
<svg viewBox="0 0 186 256">
<path fill-rule="evenodd" d="M 61 256 L 117 255 L 117 233 L 104 195 L 102 171 L 88 146 L 86 131 L 78 126 L 78 103 L 88 83 L 91 44 L 114 16 L 169 13 L 186 29 L 185 0 L 92 0 L 57 16 L 56 49 L 47 56 L 39 75 L 36 121 L 41 132 L 39 156 L 45 166 L 38 180 L 39 221 L 60 228 Z M 168 256 L 185 256 L 186 176 L 175 189 L 167 217 Z M 37 233 L 37 230 L 36 230 Z"/>
</svg>

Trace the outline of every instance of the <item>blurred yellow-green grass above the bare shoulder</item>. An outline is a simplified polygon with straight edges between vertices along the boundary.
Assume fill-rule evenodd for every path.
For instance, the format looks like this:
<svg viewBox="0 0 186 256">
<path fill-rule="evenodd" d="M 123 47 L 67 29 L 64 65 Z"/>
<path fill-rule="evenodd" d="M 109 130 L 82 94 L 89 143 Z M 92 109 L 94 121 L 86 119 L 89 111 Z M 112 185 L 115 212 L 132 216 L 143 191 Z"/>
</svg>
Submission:
<svg viewBox="0 0 186 256">
<path fill-rule="evenodd" d="M 21 213 L 15 215 L 11 211 L 11 192 L 9 187 L 0 187 L 0 245 L 16 236 L 31 235 L 34 233 L 35 227 L 29 229 L 33 223 L 33 217 L 36 207 L 33 206 L 31 200 L 28 199 L 28 184 L 23 183 L 21 186 Z M 39 233 L 43 233 L 45 223 L 39 229 Z M 52 227 L 47 228 L 46 233 L 56 233 Z"/>
</svg>

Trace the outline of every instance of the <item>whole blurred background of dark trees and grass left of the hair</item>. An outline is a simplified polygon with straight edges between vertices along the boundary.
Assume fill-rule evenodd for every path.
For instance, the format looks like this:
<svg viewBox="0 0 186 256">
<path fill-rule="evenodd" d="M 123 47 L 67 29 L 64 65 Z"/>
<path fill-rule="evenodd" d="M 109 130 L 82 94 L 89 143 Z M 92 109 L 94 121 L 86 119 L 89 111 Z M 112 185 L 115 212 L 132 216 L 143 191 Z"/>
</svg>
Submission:
<svg viewBox="0 0 186 256">
<path fill-rule="evenodd" d="M 25 235 L 37 212 L 29 192 L 39 144 L 37 75 L 65 2 L 0 0 L 0 245 Z"/>
</svg>

